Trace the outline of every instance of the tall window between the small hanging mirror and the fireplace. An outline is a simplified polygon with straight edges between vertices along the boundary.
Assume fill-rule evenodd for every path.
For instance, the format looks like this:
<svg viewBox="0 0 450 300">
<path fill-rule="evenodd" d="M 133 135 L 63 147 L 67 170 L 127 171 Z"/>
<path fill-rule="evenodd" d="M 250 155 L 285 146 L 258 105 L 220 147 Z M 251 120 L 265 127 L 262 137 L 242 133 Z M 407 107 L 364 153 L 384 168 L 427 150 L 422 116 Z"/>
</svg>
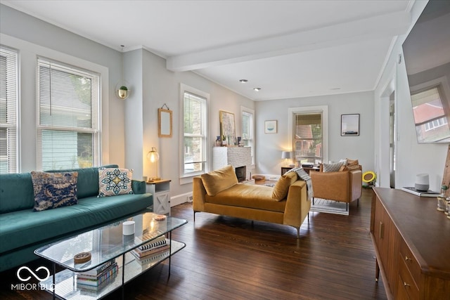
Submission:
<svg viewBox="0 0 450 300">
<path fill-rule="evenodd" d="M 184 131 L 181 176 L 205 173 L 207 166 L 207 98 L 183 92 Z"/>
</svg>

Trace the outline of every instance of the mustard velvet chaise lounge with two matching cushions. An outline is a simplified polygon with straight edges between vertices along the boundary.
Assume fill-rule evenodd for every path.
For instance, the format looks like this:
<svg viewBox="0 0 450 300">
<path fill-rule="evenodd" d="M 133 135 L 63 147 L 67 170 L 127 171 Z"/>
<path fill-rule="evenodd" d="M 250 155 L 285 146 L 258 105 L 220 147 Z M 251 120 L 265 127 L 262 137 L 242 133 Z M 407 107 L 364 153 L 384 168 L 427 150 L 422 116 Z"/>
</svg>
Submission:
<svg viewBox="0 0 450 300">
<path fill-rule="evenodd" d="M 193 211 L 266 221 L 297 228 L 308 215 L 307 185 L 296 172 L 281 176 L 274 188 L 239 184 L 231 165 L 193 178 Z"/>
</svg>

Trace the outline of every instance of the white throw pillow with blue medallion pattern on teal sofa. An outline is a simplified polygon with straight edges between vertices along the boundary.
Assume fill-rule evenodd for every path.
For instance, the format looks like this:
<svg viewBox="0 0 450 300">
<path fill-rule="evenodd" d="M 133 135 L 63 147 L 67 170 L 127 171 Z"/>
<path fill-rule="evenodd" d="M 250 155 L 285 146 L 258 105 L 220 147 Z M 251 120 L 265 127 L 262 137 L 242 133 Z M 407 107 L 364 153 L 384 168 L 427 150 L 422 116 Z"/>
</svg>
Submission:
<svg viewBox="0 0 450 300">
<path fill-rule="evenodd" d="M 133 170 L 119 168 L 98 168 L 98 196 L 134 194 L 131 189 Z"/>
</svg>

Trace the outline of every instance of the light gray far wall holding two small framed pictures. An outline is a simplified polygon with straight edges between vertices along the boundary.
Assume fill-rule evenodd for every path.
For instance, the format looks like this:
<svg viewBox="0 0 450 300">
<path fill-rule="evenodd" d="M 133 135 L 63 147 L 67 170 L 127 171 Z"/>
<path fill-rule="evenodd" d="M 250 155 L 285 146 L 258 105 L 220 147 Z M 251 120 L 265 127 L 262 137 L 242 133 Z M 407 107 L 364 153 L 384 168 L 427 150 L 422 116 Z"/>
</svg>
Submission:
<svg viewBox="0 0 450 300">
<path fill-rule="evenodd" d="M 288 108 L 328 105 L 328 160 L 359 159 L 364 171 L 373 170 L 373 92 L 260 101 L 256 103 L 257 173 L 280 174 L 281 151 L 288 141 Z M 340 136 L 340 117 L 360 114 L 359 136 Z M 278 133 L 264 133 L 264 121 L 278 121 Z"/>
</svg>

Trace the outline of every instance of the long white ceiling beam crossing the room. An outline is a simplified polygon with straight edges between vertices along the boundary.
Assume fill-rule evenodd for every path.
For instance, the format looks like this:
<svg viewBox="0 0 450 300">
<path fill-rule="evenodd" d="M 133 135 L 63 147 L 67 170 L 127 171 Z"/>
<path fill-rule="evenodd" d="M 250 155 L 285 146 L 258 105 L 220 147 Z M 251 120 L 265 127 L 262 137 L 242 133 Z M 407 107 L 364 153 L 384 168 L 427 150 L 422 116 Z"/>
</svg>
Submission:
<svg viewBox="0 0 450 300">
<path fill-rule="evenodd" d="M 230 63 L 283 56 L 318 48 L 404 34 L 411 25 L 406 11 L 330 25 L 302 32 L 247 41 L 167 58 L 167 70 L 183 72 Z"/>
</svg>

